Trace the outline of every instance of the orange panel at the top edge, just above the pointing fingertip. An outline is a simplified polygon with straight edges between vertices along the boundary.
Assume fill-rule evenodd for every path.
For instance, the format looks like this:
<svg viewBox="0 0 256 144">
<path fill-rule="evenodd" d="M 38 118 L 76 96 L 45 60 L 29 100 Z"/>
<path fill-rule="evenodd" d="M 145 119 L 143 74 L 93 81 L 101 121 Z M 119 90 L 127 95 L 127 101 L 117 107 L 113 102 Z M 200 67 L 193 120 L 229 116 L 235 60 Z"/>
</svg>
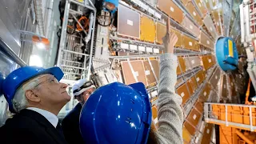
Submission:
<svg viewBox="0 0 256 144">
<path fill-rule="evenodd" d="M 158 0 L 158 9 L 174 18 L 178 23 L 182 23 L 183 11 L 171 0 Z"/>
</svg>

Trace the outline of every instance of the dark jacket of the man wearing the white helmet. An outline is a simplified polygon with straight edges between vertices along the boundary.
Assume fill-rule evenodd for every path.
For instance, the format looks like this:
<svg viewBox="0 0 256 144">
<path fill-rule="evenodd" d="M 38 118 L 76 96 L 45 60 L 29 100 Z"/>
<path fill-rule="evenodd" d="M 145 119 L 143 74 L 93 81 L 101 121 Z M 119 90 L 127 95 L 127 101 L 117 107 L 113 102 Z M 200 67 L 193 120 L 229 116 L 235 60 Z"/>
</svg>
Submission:
<svg viewBox="0 0 256 144">
<path fill-rule="evenodd" d="M 62 130 L 66 141 L 70 144 L 84 144 L 80 134 L 79 117 L 82 110 L 82 105 L 78 103 L 73 110 L 62 121 Z"/>
</svg>

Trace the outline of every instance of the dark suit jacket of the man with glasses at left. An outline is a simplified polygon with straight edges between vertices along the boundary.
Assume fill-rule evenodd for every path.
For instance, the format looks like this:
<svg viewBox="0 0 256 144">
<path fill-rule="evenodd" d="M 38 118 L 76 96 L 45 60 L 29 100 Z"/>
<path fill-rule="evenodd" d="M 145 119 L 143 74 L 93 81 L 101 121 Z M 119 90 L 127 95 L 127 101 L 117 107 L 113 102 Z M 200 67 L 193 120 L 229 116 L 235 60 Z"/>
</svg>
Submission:
<svg viewBox="0 0 256 144">
<path fill-rule="evenodd" d="M 45 117 L 33 110 L 22 110 L 0 128 L 1 144 L 66 144 L 60 133 Z"/>
</svg>

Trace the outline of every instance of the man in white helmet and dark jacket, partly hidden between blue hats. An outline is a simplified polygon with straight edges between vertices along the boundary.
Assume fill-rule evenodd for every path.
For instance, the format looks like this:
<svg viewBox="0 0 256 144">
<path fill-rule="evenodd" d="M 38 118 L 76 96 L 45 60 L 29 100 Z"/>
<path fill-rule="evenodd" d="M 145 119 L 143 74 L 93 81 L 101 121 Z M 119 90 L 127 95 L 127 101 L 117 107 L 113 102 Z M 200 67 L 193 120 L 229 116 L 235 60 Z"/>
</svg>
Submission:
<svg viewBox="0 0 256 144">
<path fill-rule="evenodd" d="M 70 111 L 69 114 L 62 121 L 62 129 L 66 142 L 73 144 L 84 144 L 82 135 L 80 134 L 79 118 L 82 110 L 82 106 L 85 104 L 90 94 L 94 92 L 96 86 L 93 82 L 80 79 L 74 83 L 72 87 L 74 98 L 78 100 L 77 106 Z"/>
</svg>

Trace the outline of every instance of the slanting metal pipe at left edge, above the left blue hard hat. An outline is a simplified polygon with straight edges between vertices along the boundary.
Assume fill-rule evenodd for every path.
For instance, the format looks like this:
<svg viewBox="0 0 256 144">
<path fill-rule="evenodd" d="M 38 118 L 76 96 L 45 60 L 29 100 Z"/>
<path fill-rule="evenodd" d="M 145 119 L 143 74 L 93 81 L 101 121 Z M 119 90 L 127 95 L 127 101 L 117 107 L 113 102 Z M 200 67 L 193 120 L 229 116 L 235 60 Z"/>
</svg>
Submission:
<svg viewBox="0 0 256 144">
<path fill-rule="evenodd" d="M 18 57 L 17 54 L 14 53 L 13 50 L 11 50 L 10 46 L 6 44 L 6 42 L 2 41 L 2 38 L 0 38 L 0 46 L 3 52 L 14 62 L 16 62 L 19 66 L 26 66 L 26 62 L 22 61 L 21 58 Z"/>
</svg>

